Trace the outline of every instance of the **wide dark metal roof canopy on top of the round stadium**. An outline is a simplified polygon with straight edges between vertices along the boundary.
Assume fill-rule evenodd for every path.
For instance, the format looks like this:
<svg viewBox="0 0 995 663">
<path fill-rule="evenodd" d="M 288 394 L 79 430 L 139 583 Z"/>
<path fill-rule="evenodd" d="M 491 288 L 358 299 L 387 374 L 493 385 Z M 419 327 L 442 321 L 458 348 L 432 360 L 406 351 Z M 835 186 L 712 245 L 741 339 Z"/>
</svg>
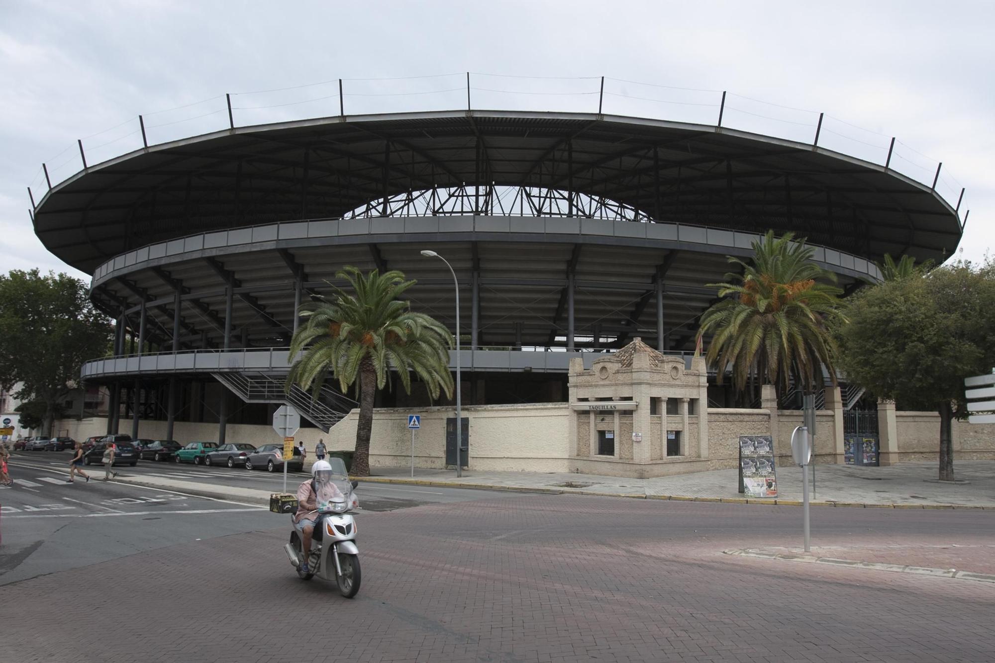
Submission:
<svg viewBox="0 0 995 663">
<path fill-rule="evenodd" d="M 603 196 L 669 223 L 795 231 L 872 260 L 942 261 L 962 234 L 931 188 L 831 150 L 701 124 L 501 110 L 334 116 L 154 145 L 53 187 L 35 231 L 92 272 L 166 239 L 492 183 Z"/>
</svg>

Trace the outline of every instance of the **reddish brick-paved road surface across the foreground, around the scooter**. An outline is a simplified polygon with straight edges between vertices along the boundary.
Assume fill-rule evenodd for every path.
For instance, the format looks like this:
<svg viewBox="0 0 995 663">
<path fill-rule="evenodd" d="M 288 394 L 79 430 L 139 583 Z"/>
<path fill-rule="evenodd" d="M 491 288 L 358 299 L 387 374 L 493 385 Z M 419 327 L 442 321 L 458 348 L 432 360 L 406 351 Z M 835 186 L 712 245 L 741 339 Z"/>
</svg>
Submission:
<svg viewBox="0 0 995 663">
<path fill-rule="evenodd" d="M 992 660 L 995 585 L 721 553 L 796 546 L 800 516 L 499 494 L 368 513 L 351 601 L 298 580 L 273 516 L 273 530 L 4 586 L 0 660 Z M 813 541 L 957 545 L 969 565 L 990 556 L 992 524 L 982 511 L 823 508 Z"/>
</svg>

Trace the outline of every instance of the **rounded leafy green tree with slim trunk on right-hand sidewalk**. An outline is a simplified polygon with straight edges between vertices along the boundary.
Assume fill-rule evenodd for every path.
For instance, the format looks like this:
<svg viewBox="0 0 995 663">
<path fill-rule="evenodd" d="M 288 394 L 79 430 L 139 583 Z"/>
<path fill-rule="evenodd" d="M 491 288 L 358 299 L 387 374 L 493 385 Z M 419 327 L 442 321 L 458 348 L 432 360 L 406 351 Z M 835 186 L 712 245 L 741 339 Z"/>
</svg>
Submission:
<svg viewBox="0 0 995 663">
<path fill-rule="evenodd" d="M 964 378 L 995 365 L 995 264 L 959 261 L 851 298 L 839 330 L 847 378 L 940 416 L 939 478 L 953 481 L 951 422 L 967 414 Z"/>
</svg>

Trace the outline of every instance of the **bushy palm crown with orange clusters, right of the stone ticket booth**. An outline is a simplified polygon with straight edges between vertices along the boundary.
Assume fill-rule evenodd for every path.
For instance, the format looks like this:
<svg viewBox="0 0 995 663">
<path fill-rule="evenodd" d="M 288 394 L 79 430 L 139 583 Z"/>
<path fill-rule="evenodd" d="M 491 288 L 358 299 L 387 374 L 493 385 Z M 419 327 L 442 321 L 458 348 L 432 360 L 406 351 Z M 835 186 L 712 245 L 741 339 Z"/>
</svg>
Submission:
<svg viewBox="0 0 995 663">
<path fill-rule="evenodd" d="M 731 369 L 739 391 L 754 373 L 779 392 L 792 377 L 811 390 L 822 385 L 823 366 L 836 383 L 836 343 L 827 324 L 842 317 L 843 291 L 826 283 L 836 277 L 812 262 L 814 249 L 793 239 L 768 231 L 753 242 L 751 264 L 728 257 L 741 273 L 708 284 L 722 299 L 701 316 L 697 335 L 712 334 L 705 357 L 719 382 Z"/>
</svg>

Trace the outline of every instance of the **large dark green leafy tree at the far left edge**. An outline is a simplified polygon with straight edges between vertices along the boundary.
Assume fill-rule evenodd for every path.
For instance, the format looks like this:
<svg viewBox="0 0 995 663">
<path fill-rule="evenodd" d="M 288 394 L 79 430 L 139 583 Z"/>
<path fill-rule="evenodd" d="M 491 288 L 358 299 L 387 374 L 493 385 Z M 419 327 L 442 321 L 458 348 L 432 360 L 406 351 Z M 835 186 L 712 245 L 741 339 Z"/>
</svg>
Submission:
<svg viewBox="0 0 995 663">
<path fill-rule="evenodd" d="M 37 269 L 0 276 L 0 383 L 22 382 L 16 398 L 45 404 L 43 434 L 52 434 L 80 367 L 103 354 L 110 335 L 79 279 Z"/>
</svg>

